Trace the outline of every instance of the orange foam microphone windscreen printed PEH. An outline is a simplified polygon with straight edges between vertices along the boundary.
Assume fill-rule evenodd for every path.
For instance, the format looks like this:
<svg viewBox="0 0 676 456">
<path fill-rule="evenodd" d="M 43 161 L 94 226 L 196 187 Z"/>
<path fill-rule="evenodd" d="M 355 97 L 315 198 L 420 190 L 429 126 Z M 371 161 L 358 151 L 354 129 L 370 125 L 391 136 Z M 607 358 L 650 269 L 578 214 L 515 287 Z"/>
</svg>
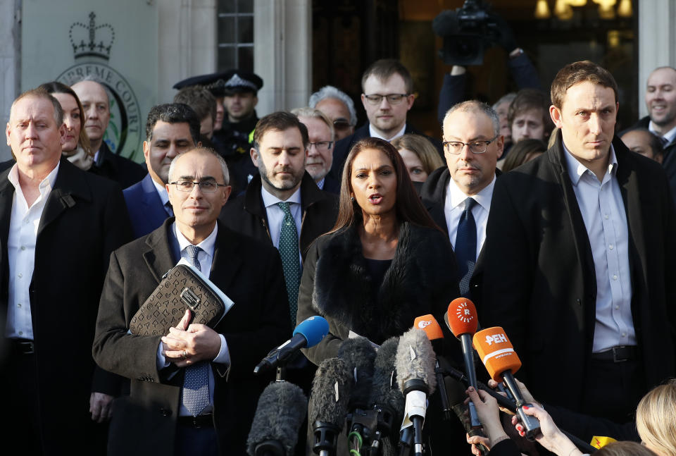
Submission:
<svg viewBox="0 0 676 456">
<path fill-rule="evenodd" d="M 512 343 L 500 326 L 487 328 L 474 335 L 474 347 L 494 381 L 502 381 L 501 374 L 511 371 L 515 374 L 521 367 L 521 360 Z"/>
</svg>

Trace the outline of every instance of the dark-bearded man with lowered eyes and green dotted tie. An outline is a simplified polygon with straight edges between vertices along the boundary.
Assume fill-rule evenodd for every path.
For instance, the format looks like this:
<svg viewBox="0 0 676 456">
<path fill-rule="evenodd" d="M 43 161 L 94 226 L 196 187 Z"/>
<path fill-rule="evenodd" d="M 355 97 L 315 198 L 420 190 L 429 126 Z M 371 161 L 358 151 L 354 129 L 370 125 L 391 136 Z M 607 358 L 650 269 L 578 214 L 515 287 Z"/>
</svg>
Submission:
<svg viewBox="0 0 676 456">
<path fill-rule="evenodd" d="M 251 147 L 258 175 L 220 213 L 228 228 L 280 250 L 293 326 L 306 251 L 315 238 L 333 228 L 338 214 L 337 197 L 319 190 L 305 171 L 309 145 L 308 128 L 292 113 L 261 118 Z"/>
</svg>

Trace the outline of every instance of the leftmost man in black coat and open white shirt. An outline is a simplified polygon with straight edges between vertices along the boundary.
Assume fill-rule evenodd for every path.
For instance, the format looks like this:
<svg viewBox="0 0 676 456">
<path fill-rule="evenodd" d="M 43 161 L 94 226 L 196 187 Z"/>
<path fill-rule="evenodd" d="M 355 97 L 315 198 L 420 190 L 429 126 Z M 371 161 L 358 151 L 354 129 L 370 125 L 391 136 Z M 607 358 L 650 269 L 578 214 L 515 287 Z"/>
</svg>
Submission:
<svg viewBox="0 0 676 456">
<path fill-rule="evenodd" d="M 100 454 L 105 429 L 92 417 L 108 417 L 117 383 L 94 369 L 92 302 L 111 252 L 131 239 L 122 192 L 61 159 L 63 111 L 46 92 L 14 101 L 6 135 L 16 164 L 0 173 L 5 432 L 27 454 L 61 455 L 74 442 Z"/>
</svg>

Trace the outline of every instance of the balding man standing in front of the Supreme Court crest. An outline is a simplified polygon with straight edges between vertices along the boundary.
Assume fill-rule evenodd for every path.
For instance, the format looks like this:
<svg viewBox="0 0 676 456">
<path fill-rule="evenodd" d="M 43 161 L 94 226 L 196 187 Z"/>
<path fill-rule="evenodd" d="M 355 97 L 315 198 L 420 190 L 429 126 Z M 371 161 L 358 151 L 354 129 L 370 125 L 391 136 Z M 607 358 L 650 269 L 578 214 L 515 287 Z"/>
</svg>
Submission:
<svg viewBox="0 0 676 456">
<path fill-rule="evenodd" d="M 96 81 L 83 80 L 73 84 L 73 90 L 82 103 L 83 115 L 86 117 L 84 130 L 87 131 L 92 150 L 96 151 L 94 165 L 89 171 L 115 180 L 123 188 L 139 182 L 146 175 L 144 166 L 113 154 L 104 142 L 104 133 L 111 120 L 111 104 L 104 86 Z"/>
</svg>

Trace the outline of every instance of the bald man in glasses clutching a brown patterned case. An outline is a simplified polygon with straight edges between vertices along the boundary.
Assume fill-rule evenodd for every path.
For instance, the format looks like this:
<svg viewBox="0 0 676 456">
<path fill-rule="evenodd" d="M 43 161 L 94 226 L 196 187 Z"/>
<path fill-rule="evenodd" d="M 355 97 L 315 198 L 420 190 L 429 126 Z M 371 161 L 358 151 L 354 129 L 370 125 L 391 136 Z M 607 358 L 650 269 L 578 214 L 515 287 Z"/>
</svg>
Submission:
<svg viewBox="0 0 676 456">
<path fill-rule="evenodd" d="M 94 357 L 131 379 L 130 396 L 113 405 L 108 454 L 242 455 L 271 379 L 253 376 L 253 367 L 291 335 L 282 264 L 273 247 L 217 223 L 230 186 L 215 152 L 185 152 L 169 175 L 175 219 L 113 252 L 101 294 Z M 202 273 L 234 302 L 230 311 L 213 329 L 188 326 L 187 311 L 163 337 L 127 333 L 163 274 L 178 259 L 194 264 L 194 246 Z M 189 412 L 183 368 L 201 363 L 211 378 L 208 405 Z"/>
</svg>

